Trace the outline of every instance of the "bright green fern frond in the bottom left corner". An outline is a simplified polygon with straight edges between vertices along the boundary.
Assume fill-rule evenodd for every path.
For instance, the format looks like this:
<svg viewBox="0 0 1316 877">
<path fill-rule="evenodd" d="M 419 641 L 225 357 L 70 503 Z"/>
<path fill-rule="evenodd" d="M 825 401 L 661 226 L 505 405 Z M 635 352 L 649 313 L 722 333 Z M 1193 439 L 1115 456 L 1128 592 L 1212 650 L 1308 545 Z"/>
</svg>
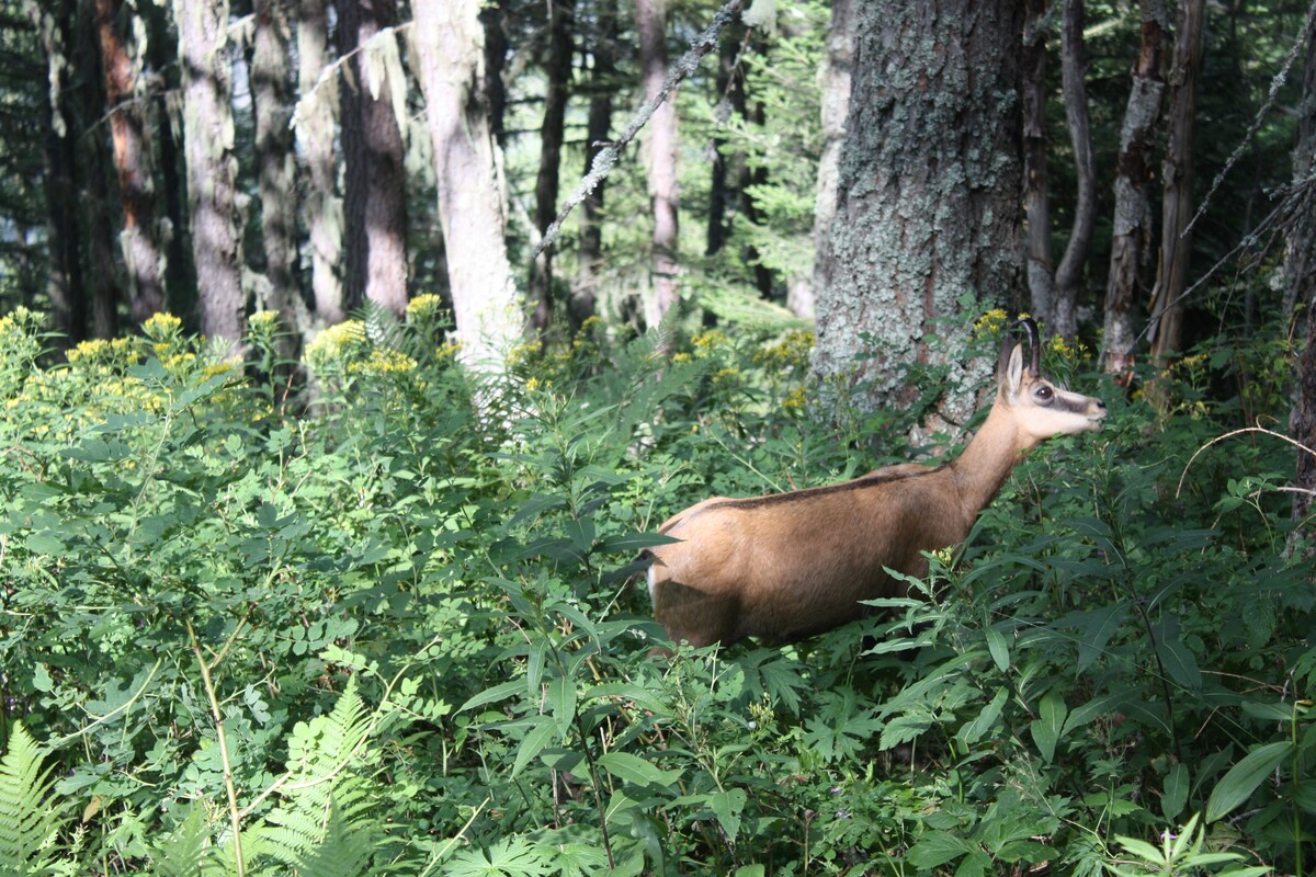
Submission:
<svg viewBox="0 0 1316 877">
<path fill-rule="evenodd" d="M 0 863 L 16 874 L 42 874 L 51 868 L 53 845 L 63 819 L 53 799 L 54 767 L 41 769 L 49 752 L 21 723 L 9 735 L 0 759 Z"/>
</svg>

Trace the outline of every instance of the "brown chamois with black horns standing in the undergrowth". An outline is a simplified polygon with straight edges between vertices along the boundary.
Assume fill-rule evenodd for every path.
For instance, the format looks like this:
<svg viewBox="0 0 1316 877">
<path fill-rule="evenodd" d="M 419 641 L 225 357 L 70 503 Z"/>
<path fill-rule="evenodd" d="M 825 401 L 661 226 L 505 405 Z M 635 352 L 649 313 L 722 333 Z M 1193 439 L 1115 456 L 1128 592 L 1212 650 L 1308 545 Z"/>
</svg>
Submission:
<svg viewBox="0 0 1316 877">
<path fill-rule="evenodd" d="M 884 568 L 924 576 L 920 552 L 963 542 L 1026 451 L 1099 429 L 1105 404 L 1046 380 L 1037 326 L 1020 325 L 1030 363 L 1021 343 L 1007 341 L 996 401 L 955 459 L 790 493 L 712 497 L 669 518 L 658 531 L 680 542 L 646 554 L 654 615 L 672 642 L 788 643 L 854 621 L 866 614 L 861 600 L 904 592 Z"/>
</svg>

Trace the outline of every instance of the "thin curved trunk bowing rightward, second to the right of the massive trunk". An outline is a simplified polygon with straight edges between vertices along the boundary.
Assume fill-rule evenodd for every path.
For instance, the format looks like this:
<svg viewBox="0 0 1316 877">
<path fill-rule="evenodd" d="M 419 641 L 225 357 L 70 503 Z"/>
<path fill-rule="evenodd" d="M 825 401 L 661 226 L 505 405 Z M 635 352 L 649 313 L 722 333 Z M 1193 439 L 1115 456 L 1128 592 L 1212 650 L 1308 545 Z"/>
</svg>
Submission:
<svg viewBox="0 0 1316 877">
<path fill-rule="evenodd" d="M 1078 176 L 1078 199 L 1074 206 L 1074 227 L 1069 245 L 1055 270 L 1055 323 L 1053 331 L 1073 339 L 1078 331 L 1078 289 L 1087 266 L 1092 245 L 1092 226 L 1096 220 L 1096 168 L 1092 162 L 1092 129 L 1087 114 L 1087 87 L 1083 78 L 1087 53 L 1083 47 L 1083 0 L 1065 0 L 1062 25 L 1061 74 L 1065 91 L 1065 120 L 1070 145 L 1074 149 L 1074 170 Z"/>
</svg>

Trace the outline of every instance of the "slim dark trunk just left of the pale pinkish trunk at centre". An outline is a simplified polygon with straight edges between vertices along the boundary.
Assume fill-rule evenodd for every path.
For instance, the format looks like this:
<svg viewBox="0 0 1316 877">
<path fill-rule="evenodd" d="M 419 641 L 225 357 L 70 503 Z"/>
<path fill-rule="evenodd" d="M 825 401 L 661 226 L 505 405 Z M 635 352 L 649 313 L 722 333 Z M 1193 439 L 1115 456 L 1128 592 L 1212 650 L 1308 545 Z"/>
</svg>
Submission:
<svg viewBox="0 0 1316 877">
<path fill-rule="evenodd" d="M 590 114 L 586 121 L 584 172 L 612 131 L 612 92 L 617 87 L 617 0 L 597 0 L 597 30 L 594 36 L 594 67 L 590 70 Z M 607 180 L 599 180 L 582 205 L 580 247 L 576 252 L 576 279 L 571 285 L 567 313 L 571 331 L 580 329 L 597 308 L 599 273 L 603 263 L 603 193 Z"/>
</svg>

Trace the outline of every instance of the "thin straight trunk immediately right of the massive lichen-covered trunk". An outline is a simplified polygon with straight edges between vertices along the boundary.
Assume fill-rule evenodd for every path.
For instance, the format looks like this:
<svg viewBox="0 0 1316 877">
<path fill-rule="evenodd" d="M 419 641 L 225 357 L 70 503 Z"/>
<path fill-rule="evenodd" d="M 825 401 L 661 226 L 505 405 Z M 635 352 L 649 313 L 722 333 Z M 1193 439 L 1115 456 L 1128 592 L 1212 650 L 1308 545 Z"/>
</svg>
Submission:
<svg viewBox="0 0 1316 877">
<path fill-rule="evenodd" d="M 1051 202 L 1046 137 L 1046 7 L 1028 0 L 1024 50 L 1024 216 L 1028 218 L 1029 313 L 1044 330 L 1055 330 L 1055 281 L 1051 262 Z"/>
</svg>

